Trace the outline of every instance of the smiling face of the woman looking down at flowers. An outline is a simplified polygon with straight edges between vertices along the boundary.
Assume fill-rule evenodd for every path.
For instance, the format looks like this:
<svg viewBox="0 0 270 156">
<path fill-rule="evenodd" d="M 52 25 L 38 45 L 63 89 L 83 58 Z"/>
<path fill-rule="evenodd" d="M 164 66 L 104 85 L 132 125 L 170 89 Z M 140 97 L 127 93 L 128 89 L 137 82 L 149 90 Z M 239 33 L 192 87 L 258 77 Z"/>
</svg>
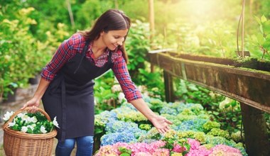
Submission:
<svg viewBox="0 0 270 156">
<path fill-rule="evenodd" d="M 104 45 L 106 45 L 109 50 L 115 50 L 118 45 L 123 44 L 127 32 L 128 29 L 109 30 L 107 33 L 103 31 L 100 36 L 102 37 Z"/>
</svg>

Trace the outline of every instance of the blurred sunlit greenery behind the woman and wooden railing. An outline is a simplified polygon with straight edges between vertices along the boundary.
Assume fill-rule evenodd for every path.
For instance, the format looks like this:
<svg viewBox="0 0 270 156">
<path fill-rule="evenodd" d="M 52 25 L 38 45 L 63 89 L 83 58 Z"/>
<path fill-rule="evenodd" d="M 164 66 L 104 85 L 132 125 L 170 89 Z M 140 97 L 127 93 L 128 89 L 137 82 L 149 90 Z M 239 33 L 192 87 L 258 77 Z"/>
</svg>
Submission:
<svg viewBox="0 0 270 156">
<path fill-rule="evenodd" d="M 155 30 L 150 32 L 148 0 L 1 0 L 0 97 L 5 99 L 14 88 L 27 87 L 28 79 L 41 72 L 63 40 L 77 30 L 91 28 L 107 9 L 121 9 L 131 17 L 133 24 L 126 40 L 131 77 L 161 99 L 162 72 L 149 72 L 145 60 L 149 50 L 173 48 L 195 55 L 237 58 L 242 1 L 156 0 L 153 5 Z M 245 4 L 244 50 L 259 60 L 270 59 L 269 7 L 269 0 L 247 0 Z M 101 79 L 107 79 L 107 86 L 97 80 L 102 85 L 96 85 L 97 92 L 107 91 L 106 98 L 114 98 L 108 92 L 115 83 L 113 74 Z"/>
</svg>

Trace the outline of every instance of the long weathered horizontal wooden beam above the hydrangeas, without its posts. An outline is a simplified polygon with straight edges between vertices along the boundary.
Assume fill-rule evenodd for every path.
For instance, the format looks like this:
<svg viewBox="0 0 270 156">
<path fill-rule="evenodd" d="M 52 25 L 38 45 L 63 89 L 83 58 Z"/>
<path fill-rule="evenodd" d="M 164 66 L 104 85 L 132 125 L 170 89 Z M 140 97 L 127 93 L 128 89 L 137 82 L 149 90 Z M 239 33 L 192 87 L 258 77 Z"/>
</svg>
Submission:
<svg viewBox="0 0 270 156">
<path fill-rule="evenodd" d="M 149 53 L 169 74 L 270 113 L 270 72 Z"/>
</svg>

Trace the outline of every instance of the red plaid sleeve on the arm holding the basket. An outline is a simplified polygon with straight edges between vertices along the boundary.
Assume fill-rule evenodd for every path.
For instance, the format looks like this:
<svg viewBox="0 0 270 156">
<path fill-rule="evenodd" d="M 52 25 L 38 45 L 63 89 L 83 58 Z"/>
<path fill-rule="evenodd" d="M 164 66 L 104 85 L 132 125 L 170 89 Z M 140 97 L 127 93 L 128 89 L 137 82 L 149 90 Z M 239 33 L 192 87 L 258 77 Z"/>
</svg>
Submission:
<svg viewBox="0 0 270 156">
<path fill-rule="evenodd" d="M 72 35 L 68 40 L 65 40 L 56 50 L 52 60 L 43 67 L 41 77 L 47 81 L 52 81 L 57 72 L 65 65 L 68 60 L 74 55 L 75 50 L 73 45 L 80 40 L 80 35 Z"/>
</svg>

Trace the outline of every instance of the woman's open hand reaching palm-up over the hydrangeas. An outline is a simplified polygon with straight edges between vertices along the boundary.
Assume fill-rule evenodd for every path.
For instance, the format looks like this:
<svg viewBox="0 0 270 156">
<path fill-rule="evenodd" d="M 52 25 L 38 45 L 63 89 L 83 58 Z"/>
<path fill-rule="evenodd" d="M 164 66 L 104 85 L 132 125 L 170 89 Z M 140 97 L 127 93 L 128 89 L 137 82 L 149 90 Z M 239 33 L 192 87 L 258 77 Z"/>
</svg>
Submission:
<svg viewBox="0 0 270 156">
<path fill-rule="evenodd" d="M 153 126 L 156 127 L 159 133 L 166 133 L 168 130 L 170 130 L 169 125 L 173 124 L 163 116 L 153 116 L 150 121 L 153 123 Z"/>
</svg>

